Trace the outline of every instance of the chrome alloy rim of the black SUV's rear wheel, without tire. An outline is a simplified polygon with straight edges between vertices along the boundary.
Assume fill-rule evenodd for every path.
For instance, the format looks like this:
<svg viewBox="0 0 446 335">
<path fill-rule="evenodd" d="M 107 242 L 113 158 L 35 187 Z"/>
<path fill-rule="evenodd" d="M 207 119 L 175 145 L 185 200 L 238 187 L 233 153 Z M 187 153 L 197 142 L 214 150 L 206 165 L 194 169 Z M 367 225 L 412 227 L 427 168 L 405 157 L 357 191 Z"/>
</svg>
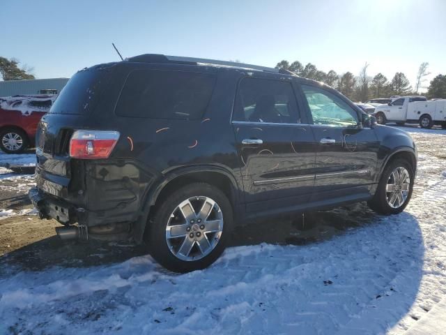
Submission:
<svg viewBox="0 0 446 335">
<path fill-rule="evenodd" d="M 199 260 L 214 250 L 222 232 L 223 213 L 217 202 L 192 197 L 171 213 L 166 226 L 167 246 L 180 260 Z"/>
</svg>

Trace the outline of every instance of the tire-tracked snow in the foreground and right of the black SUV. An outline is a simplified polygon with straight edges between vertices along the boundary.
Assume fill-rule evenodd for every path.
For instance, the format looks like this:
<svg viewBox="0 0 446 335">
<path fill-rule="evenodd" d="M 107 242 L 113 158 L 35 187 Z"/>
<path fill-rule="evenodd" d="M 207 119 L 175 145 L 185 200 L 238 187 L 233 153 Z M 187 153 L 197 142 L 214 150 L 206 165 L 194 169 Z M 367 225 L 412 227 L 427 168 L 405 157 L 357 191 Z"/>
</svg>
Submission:
<svg viewBox="0 0 446 335">
<path fill-rule="evenodd" d="M 0 273 L 0 334 L 402 334 L 446 297 L 446 131 L 410 130 L 419 169 L 397 216 L 347 211 L 360 221 L 332 239 L 228 248 L 190 274 L 150 256 Z"/>
</svg>

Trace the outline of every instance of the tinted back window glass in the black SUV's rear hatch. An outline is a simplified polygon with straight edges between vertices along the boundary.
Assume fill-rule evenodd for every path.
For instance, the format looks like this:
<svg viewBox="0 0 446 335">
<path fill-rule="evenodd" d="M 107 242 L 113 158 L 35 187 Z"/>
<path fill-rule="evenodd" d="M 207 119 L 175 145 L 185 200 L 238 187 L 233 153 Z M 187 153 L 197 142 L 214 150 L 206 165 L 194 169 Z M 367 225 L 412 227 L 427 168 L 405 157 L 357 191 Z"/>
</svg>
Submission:
<svg viewBox="0 0 446 335">
<path fill-rule="evenodd" d="M 76 73 L 63 87 L 61 94 L 54 101 L 50 113 L 53 114 L 89 114 L 98 101 L 98 96 L 107 83 L 104 69 L 88 69 Z"/>
</svg>

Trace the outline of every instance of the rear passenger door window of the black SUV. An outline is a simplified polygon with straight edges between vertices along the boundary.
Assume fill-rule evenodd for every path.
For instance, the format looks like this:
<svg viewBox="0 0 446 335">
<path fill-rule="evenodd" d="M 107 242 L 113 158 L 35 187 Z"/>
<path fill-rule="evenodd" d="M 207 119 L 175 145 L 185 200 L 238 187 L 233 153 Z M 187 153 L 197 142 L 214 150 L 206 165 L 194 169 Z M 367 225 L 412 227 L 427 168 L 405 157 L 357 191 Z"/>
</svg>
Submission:
<svg viewBox="0 0 446 335">
<path fill-rule="evenodd" d="M 243 78 L 238 87 L 233 121 L 300 123 L 291 83 Z"/>
</svg>

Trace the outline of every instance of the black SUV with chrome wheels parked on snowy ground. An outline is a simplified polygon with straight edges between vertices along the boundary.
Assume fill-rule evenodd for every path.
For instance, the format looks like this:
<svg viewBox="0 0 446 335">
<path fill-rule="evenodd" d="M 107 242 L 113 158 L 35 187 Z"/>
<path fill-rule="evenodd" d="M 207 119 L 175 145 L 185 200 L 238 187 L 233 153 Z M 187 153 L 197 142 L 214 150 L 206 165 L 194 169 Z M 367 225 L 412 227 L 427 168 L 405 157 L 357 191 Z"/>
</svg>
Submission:
<svg viewBox="0 0 446 335">
<path fill-rule="evenodd" d="M 174 271 L 207 267 L 256 218 L 365 200 L 399 213 L 417 165 L 406 132 L 325 84 L 157 54 L 80 70 L 36 143 L 30 198 L 59 236 L 146 241 Z"/>
</svg>

